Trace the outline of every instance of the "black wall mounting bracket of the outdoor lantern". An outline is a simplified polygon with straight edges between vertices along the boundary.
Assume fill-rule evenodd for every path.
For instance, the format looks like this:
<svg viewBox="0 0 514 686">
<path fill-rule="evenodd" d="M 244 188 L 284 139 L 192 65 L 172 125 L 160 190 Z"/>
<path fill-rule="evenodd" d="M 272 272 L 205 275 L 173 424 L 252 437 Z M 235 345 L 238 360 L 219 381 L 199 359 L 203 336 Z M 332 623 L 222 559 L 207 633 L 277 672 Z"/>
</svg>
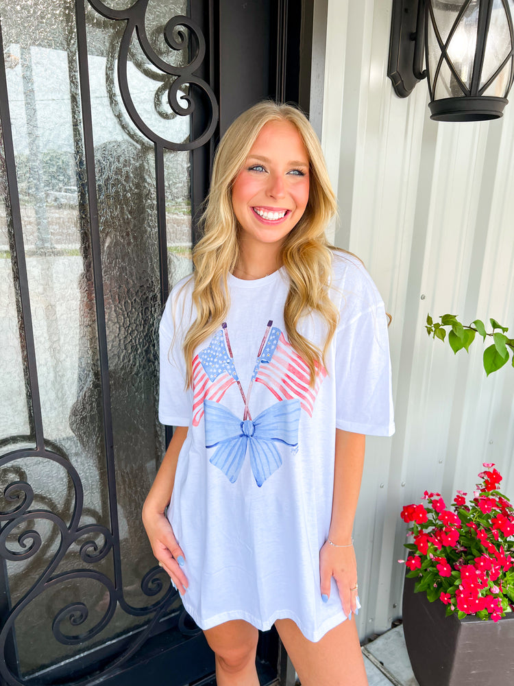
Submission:
<svg viewBox="0 0 514 686">
<path fill-rule="evenodd" d="M 426 78 L 425 0 L 393 0 L 392 12 L 387 75 L 396 95 L 407 97 Z"/>
</svg>

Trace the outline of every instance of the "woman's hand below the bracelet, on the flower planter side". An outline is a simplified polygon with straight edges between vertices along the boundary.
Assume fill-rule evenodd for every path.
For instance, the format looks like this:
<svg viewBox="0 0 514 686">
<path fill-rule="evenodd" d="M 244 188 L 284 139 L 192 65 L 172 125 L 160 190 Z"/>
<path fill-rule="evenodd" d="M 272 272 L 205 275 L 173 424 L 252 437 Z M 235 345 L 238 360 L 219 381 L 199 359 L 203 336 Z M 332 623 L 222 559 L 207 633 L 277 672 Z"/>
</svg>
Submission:
<svg viewBox="0 0 514 686">
<path fill-rule="evenodd" d="M 352 619 L 352 613 L 358 615 L 357 563 L 353 545 L 335 547 L 326 541 L 319 551 L 319 576 L 321 597 L 325 595 L 327 600 L 330 598 L 330 582 L 333 576 L 339 590 L 343 612 L 348 619 Z"/>
</svg>

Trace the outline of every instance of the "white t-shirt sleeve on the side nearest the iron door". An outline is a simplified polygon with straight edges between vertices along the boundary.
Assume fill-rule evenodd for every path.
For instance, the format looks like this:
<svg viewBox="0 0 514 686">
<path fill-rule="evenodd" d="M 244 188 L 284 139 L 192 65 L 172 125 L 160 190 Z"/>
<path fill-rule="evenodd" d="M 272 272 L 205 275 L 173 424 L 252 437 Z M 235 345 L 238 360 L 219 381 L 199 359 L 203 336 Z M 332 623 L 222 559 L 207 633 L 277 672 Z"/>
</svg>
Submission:
<svg viewBox="0 0 514 686">
<path fill-rule="evenodd" d="M 186 363 L 182 353 L 184 335 L 191 323 L 191 306 L 177 287 L 164 307 L 159 327 L 159 421 L 169 426 L 189 426 L 193 391 L 186 390 Z"/>
</svg>

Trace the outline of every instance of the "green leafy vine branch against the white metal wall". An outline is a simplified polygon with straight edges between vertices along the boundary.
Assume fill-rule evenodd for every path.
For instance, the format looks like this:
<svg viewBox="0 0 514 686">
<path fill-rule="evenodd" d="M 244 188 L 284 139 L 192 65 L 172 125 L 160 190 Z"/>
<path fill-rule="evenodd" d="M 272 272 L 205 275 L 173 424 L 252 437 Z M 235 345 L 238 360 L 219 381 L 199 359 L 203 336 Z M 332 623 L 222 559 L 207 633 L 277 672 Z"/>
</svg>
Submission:
<svg viewBox="0 0 514 686">
<path fill-rule="evenodd" d="M 480 319 L 476 319 L 468 326 L 459 322 L 453 314 L 443 314 L 439 319 L 441 323 L 434 322 L 429 314 L 426 318 L 426 331 L 434 339 L 448 340 L 454 353 L 458 353 L 462 349 L 469 353 L 469 346 L 475 340 L 477 333 L 482 336 L 484 341 L 487 337 L 493 340 L 493 343 L 484 351 L 484 369 L 487 376 L 509 362 L 511 353 L 513 355 L 512 366 L 514 367 L 514 338 L 509 338 L 506 335 L 509 329 L 502 327 L 502 324 L 498 324 L 495 319 L 489 320 L 493 329 L 490 332 L 486 331 L 485 324 Z M 446 336 L 447 328 L 448 337 Z"/>
</svg>

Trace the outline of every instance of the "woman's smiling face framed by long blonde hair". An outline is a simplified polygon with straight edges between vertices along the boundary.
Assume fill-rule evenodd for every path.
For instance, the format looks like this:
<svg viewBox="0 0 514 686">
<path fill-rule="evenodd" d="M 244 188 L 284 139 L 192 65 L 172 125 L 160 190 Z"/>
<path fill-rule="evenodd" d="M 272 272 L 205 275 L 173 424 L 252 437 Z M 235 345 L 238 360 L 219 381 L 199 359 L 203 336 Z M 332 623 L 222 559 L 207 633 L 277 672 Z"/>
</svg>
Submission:
<svg viewBox="0 0 514 686">
<path fill-rule="evenodd" d="M 280 250 L 302 217 L 308 197 L 309 158 L 302 138 L 289 121 L 269 121 L 232 187 L 241 248 L 267 244 Z"/>
</svg>

